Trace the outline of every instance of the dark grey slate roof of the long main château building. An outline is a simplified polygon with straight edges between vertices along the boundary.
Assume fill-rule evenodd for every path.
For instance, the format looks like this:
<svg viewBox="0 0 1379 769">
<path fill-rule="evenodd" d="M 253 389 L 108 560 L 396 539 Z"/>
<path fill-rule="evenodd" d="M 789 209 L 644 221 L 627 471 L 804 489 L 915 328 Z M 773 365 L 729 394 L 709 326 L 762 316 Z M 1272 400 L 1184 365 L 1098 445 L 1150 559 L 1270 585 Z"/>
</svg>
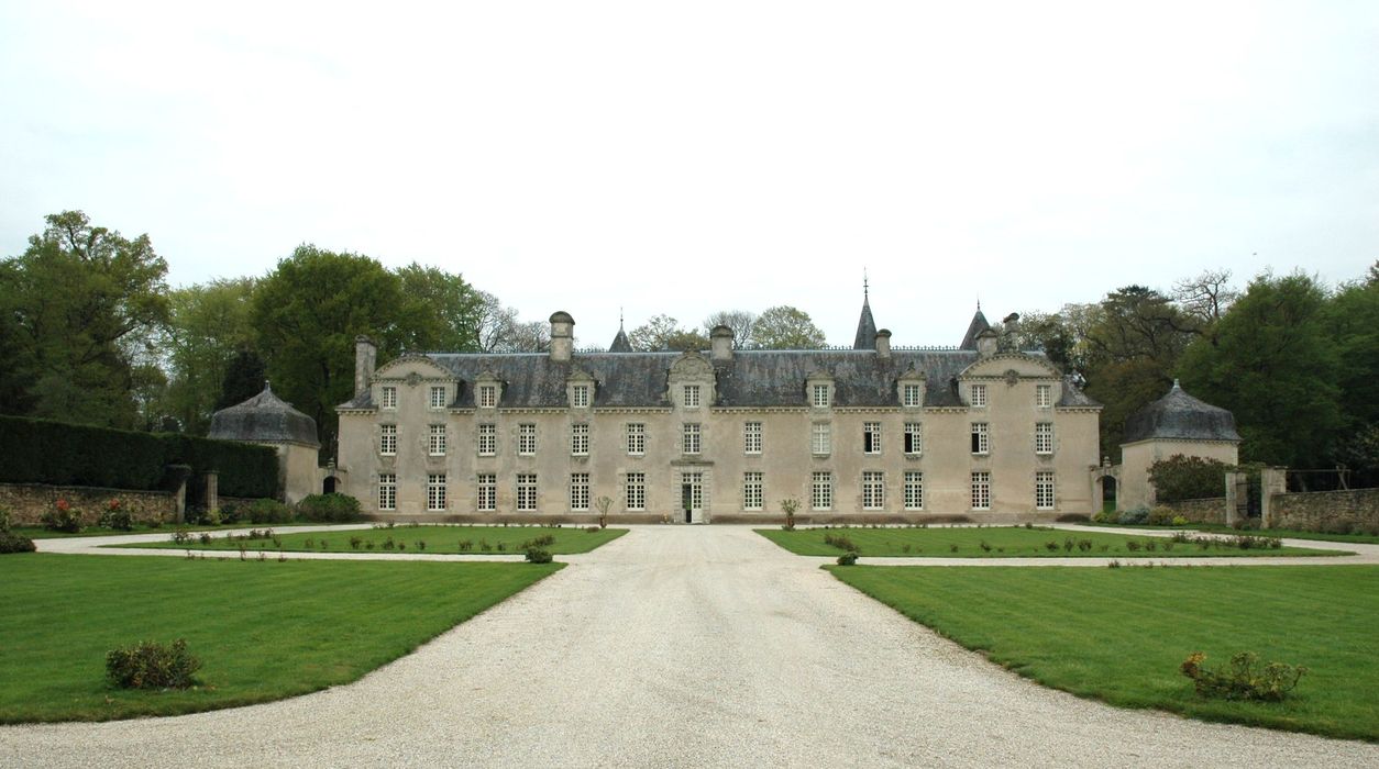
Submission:
<svg viewBox="0 0 1379 769">
<path fill-rule="evenodd" d="M 1030 353 L 1043 356 L 1043 353 Z M 669 407 L 666 384 L 680 353 L 575 353 L 553 361 L 546 353 L 427 353 L 425 356 L 461 380 L 455 407 L 473 408 L 473 382 L 492 373 L 503 382 L 499 407 L 564 408 L 565 382 L 574 371 L 592 375 L 594 407 Z M 705 356 L 707 360 L 707 356 Z M 769 408 L 805 405 L 812 373 L 833 376 L 837 407 L 894 407 L 896 380 L 912 368 L 925 375 L 927 407 L 961 407 L 957 375 L 976 362 L 974 350 L 735 350 L 729 361 L 712 361 L 718 407 Z M 365 391 L 341 408 L 372 408 Z M 1096 407 L 1065 379 L 1062 407 Z"/>
</svg>

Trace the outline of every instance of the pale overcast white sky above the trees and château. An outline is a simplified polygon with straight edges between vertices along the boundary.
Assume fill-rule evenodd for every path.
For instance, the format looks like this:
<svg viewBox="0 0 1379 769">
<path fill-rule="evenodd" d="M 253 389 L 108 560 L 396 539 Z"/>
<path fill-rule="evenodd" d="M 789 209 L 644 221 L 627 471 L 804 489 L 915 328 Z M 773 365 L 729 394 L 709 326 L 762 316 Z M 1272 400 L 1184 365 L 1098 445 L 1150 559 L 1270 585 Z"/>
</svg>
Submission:
<svg viewBox="0 0 1379 769">
<path fill-rule="evenodd" d="M 349 7 L 346 7 L 349 6 Z M 0 255 L 301 243 L 524 320 L 794 305 L 954 345 L 1131 283 L 1379 258 L 1379 3 L 0 0 Z"/>
</svg>

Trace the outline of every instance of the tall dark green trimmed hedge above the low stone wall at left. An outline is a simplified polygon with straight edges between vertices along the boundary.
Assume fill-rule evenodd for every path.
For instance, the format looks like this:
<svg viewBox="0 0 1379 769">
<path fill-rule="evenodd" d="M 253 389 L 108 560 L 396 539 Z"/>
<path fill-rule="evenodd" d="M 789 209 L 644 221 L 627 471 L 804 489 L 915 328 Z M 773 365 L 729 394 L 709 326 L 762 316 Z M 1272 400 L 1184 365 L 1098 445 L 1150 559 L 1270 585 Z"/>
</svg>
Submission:
<svg viewBox="0 0 1379 769">
<path fill-rule="evenodd" d="M 277 496 L 277 452 L 178 433 L 134 433 L 47 419 L 0 416 L 0 482 L 160 489 L 168 464 L 189 464 L 192 484 L 219 471 L 226 496 Z M 200 489 L 188 489 L 197 499 Z"/>
</svg>

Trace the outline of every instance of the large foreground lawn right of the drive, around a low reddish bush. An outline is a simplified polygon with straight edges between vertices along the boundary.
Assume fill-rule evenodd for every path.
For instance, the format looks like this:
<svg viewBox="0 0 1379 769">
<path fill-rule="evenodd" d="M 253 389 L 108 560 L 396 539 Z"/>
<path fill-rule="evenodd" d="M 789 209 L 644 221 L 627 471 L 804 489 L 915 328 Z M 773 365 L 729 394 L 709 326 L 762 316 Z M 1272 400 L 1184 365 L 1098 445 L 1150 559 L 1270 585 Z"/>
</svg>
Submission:
<svg viewBox="0 0 1379 769">
<path fill-rule="evenodd" d="M 827 569 L 1047 686 L 1123 707 L 1379 740 L 1379 566 Z M 1254 650 L 1310 673 L 1282 703 L 1202 699 L 1178 670 L 1198 650 L 1207 667 Z"/>
</svg>

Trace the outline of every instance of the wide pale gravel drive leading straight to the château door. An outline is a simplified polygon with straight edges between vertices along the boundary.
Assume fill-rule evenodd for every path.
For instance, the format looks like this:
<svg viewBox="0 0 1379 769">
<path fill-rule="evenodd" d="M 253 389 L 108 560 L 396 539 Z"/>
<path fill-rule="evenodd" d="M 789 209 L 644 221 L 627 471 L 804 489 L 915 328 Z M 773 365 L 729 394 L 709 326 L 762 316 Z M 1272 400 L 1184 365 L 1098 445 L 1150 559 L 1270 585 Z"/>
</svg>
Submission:
<svg viewBox="0 0 1379 769">
<path fill-rule="evenodd" d="M 1379 746 L 1044 689 L 745 526 L 638 526 L 561 560 L 349 686 L 0 728 L 0 765 L 1379 765 Z"/>
</svg>

